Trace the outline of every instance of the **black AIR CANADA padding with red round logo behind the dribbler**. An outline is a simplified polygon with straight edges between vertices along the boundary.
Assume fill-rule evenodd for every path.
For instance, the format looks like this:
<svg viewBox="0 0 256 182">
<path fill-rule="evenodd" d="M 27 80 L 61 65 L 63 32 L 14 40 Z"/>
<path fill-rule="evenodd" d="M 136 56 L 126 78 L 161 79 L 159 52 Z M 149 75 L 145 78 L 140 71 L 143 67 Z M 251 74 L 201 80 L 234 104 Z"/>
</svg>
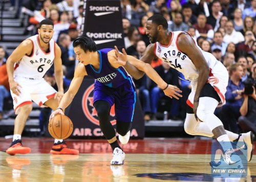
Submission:
<svg viewBox="0 0 256 182">
<path fill-rule="evenodd" d="M 71 105 L 66 110 L 66 115 L 73 122 L 74 130 L 70 138 L 102 138 L 99 127 L 97 112 L 93 107 L 94 79 L 84 78 L 80 89 L 78 90 Z M 143 113 L 136 98 L 135 112 L 131 128 L 131 138 L 144 138 L 144 120 Z M 123 113 L 125 114 L 125 113 Z M 112 125 L 116 125 L 114 106 L 110 111 L 110 120 Z"/>
</svg>

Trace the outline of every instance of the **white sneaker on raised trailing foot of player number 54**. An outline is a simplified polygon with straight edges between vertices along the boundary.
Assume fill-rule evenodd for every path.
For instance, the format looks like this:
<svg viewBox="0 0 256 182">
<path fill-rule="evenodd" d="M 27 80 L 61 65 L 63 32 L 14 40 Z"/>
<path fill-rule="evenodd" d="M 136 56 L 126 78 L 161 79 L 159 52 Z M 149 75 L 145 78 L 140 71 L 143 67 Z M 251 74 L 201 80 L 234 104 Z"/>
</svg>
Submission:
<svg viewBox="0 0 256 182">
<path fill-rule="evenodd" d="M 249 162 L 252 158 L 252 151 L 253 151 L 253 134 L 252 132 L 248 132 L 245 134 L 241 134 L 238 138 L 238 142 L 244 142 L 245 148 L 241 149 L 241 151 L 247 152 L 247 161 Z"/>
</svg>

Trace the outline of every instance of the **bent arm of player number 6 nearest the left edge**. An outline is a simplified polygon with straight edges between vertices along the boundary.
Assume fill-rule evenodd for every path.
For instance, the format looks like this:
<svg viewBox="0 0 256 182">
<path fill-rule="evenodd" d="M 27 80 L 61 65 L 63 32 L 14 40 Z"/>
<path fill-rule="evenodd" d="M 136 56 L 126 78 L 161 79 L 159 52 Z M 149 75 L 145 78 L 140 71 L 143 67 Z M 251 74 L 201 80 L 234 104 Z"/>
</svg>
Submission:
<svg viewBox="0 0 256 182">
<path fill-rule="evenodd" d="M 22 43 L 17 46 L 15 50 L 13 50 L 11 56 L 7 59 L 6 68 L 7 74 L 10 84 L 10 89 L 16 95 L 19 95 L 21 87 L 18 83 L 14 82 L 13 72 L 14 72 L 14 64 L 21 60 L 25 55 L 31 55 L 33 50 L 33 43 L 31 40 L 24 40 Z"/>
</svg>

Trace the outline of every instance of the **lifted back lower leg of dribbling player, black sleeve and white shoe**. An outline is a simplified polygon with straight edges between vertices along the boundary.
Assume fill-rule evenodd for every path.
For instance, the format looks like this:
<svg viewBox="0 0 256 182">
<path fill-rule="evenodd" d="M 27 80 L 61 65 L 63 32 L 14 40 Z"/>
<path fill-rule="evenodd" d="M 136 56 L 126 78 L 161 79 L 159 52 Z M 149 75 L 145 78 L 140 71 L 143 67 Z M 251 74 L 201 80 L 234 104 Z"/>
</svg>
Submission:
<svg viewBox="0 0 256 182">
<path fill-rule="evenodd" d="M 122 122 L 122 121 L 117 121 L 116 123 L 116 129 L 118 133 L 118 139 L 121 142 L 121 144 L 126 144 L 129 142 L 130 139 L 130 129 L 132 127 L 131 122 Z"/>
</svg>

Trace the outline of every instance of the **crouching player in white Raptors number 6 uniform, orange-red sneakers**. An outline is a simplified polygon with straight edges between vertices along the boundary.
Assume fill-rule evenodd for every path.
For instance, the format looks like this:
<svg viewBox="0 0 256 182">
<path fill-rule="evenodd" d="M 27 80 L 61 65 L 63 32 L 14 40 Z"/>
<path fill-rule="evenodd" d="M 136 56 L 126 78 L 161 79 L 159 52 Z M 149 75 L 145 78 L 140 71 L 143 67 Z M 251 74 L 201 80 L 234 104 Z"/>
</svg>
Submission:
<svg viewBox="0 0 256 182">
<path fill-rule="evenodd" d="M 6 150 L 10 155 L 29 153 L 30 148 L 22 145 L 21 135 L 32 111 L 32 100 L 40 107 L 47 106 L 55 110 L 63 96 L 63 72 L 61 50 L 52 39 L 53 22 L 42 20 L 38 35 L 24 40 L 7 60 L 11 95 L 15 114 L 13 142 Z M 55 79 L 58 92 L 54 90 L 43 76 L 54 63 Z M 63 140 L 55 139 L 52 154 L 78 154 L 78 150 L 67 147 Z"/>
</svg>

